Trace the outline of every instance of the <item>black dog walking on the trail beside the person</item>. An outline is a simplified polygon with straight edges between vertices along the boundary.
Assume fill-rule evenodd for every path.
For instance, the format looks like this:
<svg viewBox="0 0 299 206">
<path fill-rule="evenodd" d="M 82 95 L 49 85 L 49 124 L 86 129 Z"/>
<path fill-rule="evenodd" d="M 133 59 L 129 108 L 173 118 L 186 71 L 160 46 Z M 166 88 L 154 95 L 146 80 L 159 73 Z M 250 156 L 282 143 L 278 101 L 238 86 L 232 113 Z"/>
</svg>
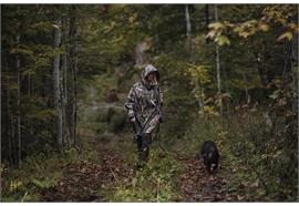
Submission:
<svg viewBox="0 0 299 206">
<path fill-rule="evenodd" d="M 200 155 L 204 159 L 207 172 L 213 174 L 218 167 L 218 161 L 220 157 L 216 144 L 212 141 L 204 142 Z"/>
</svg>

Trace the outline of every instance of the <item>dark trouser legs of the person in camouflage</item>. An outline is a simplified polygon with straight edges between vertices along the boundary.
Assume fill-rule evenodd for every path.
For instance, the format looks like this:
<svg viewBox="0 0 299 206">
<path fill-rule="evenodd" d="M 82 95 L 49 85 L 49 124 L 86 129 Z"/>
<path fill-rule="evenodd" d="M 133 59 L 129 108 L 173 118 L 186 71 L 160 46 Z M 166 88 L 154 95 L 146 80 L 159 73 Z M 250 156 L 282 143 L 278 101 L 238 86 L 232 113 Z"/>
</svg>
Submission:
<svg viewBox="0 0 299 206">
<path fill-rule="evenodd" d="M 137 152 L 141 163 L 146 163 L 150 155 L 150 146 L 152 144 L 152 135 L 145 133 L 142 137 L 137 138 Z"/>
</svg>

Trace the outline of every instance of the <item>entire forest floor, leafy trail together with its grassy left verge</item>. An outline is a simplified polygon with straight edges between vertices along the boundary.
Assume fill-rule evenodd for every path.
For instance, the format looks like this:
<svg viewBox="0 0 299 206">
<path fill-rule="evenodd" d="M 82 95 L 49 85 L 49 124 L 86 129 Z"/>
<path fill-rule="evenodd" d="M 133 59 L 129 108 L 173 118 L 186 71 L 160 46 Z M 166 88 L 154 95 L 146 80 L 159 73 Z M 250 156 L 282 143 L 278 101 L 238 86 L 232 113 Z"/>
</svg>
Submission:
<svg viewBox="0 0 299 206">
<path fill-rule="evenodd" d="M 91 113 L 95 113 L 94 111 Z M 86 117 L 79 150 L 28 156 L 18 169 L 1 165 L 3 202 L 269 202 L 257 174 L 243 158 L 218 144 L 217 173 L 208 175 L 196 157 L 199 138 L 186 135 L 167 144 L 154 141 L 150 161 L 136 168 L 136 145 L 128 131 L 97 131 Z M 87 123 L 93 123 L 87 126 Z M 197 124 L 200 126 L 200 124 Z M 101 125 L 101 128 L 104 127 Z M 202 133 L 209 131 L 203 124 Z M 195 133 L 194 131 L 192 131 Z M 192 133 L 192 134 L 193 134 Z M 210 137 L 213 134 L 206 132 Z"/>
</svg>

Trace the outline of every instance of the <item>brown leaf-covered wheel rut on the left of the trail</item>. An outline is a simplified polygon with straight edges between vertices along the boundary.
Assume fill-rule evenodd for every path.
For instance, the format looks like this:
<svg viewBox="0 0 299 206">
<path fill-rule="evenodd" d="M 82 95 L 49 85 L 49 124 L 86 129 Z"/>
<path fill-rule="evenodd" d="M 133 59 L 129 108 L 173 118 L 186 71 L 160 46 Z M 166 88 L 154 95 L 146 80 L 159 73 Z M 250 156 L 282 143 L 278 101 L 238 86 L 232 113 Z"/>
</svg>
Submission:
<svg viewBox="0 0 299 206">
<path fill-rule="evenodd" d="M 95 140 L 95 138 L 94 138 Z M 124 166 L 120 152 L 109 147 L 105 142 L 90 142 L 99 156 L 96 163 L 83 161 L 71 165 L 65 177 L 51 189 L 41 193 L 44 202 L 106 202 L 102 194 L 107 184 L 120 182 L 133 171 Z"/>
</svg>

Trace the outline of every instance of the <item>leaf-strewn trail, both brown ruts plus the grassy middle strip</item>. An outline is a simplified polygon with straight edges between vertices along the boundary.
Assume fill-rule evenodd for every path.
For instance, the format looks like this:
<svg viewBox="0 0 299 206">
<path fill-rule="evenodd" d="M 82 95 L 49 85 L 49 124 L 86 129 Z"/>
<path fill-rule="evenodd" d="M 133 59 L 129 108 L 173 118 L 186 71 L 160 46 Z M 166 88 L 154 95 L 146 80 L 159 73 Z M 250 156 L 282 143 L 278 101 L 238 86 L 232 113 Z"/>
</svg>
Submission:
<svg viewBox="0 0 299 206">
<path fill-rule="evenodd" d="M 89 144 L 96 151 L 96 161 L 82 159 L 68 166 L 54 187 L 40 190 L 41 202 L 246 200 L 228 193 L 221 174 L 208 175 L 195 156 L 162 155 L 154 148 L 148 165 L 137 171 L 136 155 L 132 154 L 135 145 L 128 136 L 90 136 Z"/>
</svg>

